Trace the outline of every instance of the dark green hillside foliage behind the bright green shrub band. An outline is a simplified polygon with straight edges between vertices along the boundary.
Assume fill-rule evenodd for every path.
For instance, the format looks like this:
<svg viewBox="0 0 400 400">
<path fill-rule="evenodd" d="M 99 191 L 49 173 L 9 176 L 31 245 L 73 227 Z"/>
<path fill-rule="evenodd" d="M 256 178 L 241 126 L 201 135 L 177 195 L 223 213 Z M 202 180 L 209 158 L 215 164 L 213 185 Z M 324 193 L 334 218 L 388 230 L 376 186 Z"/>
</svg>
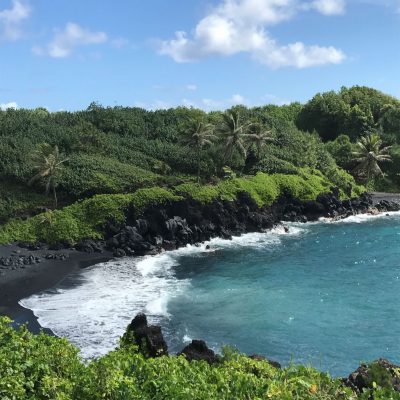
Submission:
<svg viewBox="0 0 400 400">
<path fill-rule="evenodd" d="M 39 201 L 46 184 L 57 187 L 63 206 L 96 194 L 195 182 L 197 175 L 203 183 L 215 183 L 225 164 L 239 176 L 295 175 L 298 168 L 312 168 L 340 182 L 337 177 L 343 172 L 319 136 L 297 128 L 303 110 L 298 103 L 236 106 L 226 113 L 183 107 L 146 111 L 93 103 L 79 112 L 0 111 L 0 223 L 32 213 L 36 206 L 52 206 L 45 199 Z M 382 123 L 393 127 L 395 111 L 387 113 Z M 236 131 L 230 135 L 233 115 Z M 59 159 L 66 161 L 56 176 L 43 175 L 29 187 L 29 181 L 43 173 L 32 154 L 46 146 L 57 149 Z M 21 191 L 32 201 L 22 202 Z"/>
</svg>

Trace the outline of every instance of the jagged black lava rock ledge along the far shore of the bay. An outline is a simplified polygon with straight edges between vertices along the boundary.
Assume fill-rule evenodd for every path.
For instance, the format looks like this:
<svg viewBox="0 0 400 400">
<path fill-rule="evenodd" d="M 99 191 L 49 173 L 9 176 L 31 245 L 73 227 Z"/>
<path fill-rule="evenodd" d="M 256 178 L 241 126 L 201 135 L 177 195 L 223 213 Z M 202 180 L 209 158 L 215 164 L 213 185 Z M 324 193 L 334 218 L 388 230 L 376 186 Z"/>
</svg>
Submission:
<svg viewBox="0 0 400 400">
<path fill-rule="evenodd" d="M 86 252 L 107 249 L 116 257 L 152 255 L 214 237 L 230 239 L 246 232 L 262 232 L 281 221 L 340 219 L 371 209 L 372 197 L 368 194 L 344 201 L 338 195 L 339 191 L 334 188 L 332 193 L 320 194 L 313 201 L 300 201 L 284 194 L 272 205 L 261 208 L 246 192 L 238 193 L 235 201 L 215 199 L 202 204 L 183 199 L 162 207 L 151 206 L 136 217 L 127 217 L 125 226 L 109 224 L 104 231 L 105 242 L 83 240 L 76 247 Z M 400 205 L 381 201 L 376 209 L 393 211 L 400 209 Z"/>
</svg>

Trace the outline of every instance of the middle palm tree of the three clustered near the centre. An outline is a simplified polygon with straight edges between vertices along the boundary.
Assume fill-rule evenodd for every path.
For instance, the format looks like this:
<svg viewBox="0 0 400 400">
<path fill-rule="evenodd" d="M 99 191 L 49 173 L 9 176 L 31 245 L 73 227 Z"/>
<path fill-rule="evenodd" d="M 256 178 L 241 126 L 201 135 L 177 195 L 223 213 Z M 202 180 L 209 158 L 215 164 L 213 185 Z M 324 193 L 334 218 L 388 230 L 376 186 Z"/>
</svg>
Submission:
<svg viewBox="0 0 400 400">
<path fill-rule="evenodd" d="M 246 137 L 251 123 L 241 124 L 240 114 L 237 111 L 225 112 L 222 114 L 222 124 L 219 132 L 224 139 L 224 162 L 232 162 L 232 156 L 235 149 L 246 158 Z"/>
</svg>

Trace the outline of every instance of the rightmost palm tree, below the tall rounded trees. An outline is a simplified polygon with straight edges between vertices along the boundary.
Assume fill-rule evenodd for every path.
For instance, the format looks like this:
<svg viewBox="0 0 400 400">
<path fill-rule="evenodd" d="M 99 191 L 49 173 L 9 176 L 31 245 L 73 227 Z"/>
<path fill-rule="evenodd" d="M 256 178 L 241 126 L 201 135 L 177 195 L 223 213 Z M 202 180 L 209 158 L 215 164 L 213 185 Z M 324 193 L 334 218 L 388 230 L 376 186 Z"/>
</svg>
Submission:
<svg viewBox="0 0 400 400">
<path fill-rule="evenodd" d="M 377 134 L 362 136 L 356 145 L 357 150 L 352 153 L 354 161 L 358 163 L 356 171 L 366 176 L 367 182 L 375 176 L 383 176 L 379 164 L 392 161 L 388 154 L 390 146 L 381 147 L 382 140 Z"/>
</svg>

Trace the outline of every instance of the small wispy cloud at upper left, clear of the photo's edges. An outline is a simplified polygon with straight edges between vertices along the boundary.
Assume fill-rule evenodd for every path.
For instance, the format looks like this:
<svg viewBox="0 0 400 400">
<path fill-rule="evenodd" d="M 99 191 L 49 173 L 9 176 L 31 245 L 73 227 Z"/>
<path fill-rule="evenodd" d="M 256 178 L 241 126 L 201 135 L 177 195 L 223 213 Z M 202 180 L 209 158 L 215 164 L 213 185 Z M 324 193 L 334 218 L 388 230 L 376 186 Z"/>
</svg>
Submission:
<svg viewBox="0 0 400 400">
<path fill-rule="evenodd" d="M 68 22 L 64 29 L 55 32 L 53 40 L 46 47 L 35 46 L 32 51 L 37 55 L 65 58 L 77 47 L 102 44 L 107 40 L 104 32 L 91 32 L 78 24 Z"/>
</svg>

